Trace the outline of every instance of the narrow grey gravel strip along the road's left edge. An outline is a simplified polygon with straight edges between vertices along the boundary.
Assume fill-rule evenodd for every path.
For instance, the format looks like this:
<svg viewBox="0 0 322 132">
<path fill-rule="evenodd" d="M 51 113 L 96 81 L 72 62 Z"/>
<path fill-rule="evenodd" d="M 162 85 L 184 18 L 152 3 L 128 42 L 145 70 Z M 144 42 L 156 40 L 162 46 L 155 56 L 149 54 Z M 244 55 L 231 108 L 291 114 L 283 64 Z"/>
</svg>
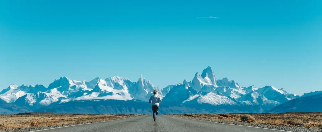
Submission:
<svg viewBox="0 0 322 132">
<path fill-rule="evenodd" d="M 143 115 L 140 115 L 140 116 L 143 116 Z M 133 117 L 137 117 L 137 116 L 133 116 Z M 126 117 L 126 118 L 132 118 L 132 117 Z M 117 119 L 125 119 L 125 118 L 116 118 L 116 119 L 109 119 L 109 120 L 104 120 L 104 121 L 117 120 Z M 82 123 L 82 124 L 104 122 L 104 121 L 92 121 L 92 122 Z M 67 126 L 73 126 L 73 125 L 80 125 L 80 124 L 54 125 L 54 126 L 43 126 L 43 127 L 27 127 L 27 128 L 18 128 L 18 129 L 5 129 L 5 130 L 0 130 L 0 132 L 30 132 L 30 131 L 50 129 L 50 128 L 67 127 Z"/>
</svg>

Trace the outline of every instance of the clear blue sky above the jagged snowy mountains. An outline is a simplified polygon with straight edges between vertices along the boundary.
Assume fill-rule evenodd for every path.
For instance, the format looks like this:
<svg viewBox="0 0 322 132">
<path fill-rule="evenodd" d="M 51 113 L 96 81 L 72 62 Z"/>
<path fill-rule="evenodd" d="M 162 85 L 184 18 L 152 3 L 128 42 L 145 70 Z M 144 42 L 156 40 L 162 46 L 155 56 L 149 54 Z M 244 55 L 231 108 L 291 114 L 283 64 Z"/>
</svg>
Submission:
<svg viewBox="0 0 322 132">
<path fill-rule="evenodd" d="M 109 76 L 161 88 L 211 66 L 241 86 L 320 91 L 322 1 L 0 0 L 0 89 Z"/>
</svg>

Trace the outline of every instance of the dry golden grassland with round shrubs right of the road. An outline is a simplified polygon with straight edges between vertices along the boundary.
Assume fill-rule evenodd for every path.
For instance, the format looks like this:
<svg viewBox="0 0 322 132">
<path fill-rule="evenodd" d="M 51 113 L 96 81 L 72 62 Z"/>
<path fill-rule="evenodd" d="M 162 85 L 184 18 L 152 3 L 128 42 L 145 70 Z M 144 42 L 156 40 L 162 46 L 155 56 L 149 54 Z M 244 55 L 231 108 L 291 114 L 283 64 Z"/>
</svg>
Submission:
<svg viewBox="0 0 322 132">
<path fill-rule="evenodd" d="M 252 124 L 278 125 L 278 126 L 301 126 L 306 128 L 322 128 L 322 113 L 280 113 L 280 114 L 247 114 L 246 122 Z M 174 114 L 169 116 L 206 119 L 209 121 L 227 120 L 242 121 L 245 114 Z M 248 120 L 250 119 L 250 120 Z"/>
</svg>

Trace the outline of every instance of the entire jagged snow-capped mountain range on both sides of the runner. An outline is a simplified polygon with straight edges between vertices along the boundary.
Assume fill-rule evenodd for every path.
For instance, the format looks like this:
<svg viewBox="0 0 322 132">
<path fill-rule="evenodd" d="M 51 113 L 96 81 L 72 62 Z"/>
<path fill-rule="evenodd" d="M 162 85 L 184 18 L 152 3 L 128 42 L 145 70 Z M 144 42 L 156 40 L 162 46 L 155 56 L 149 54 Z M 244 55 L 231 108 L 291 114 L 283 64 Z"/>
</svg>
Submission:
<svg viewBox="0 0 322 132">
<path fill-rule="evenodd" d="M 223 109 L 233 109 L 227 112 L 264 112 L 300 97 L 286 92 L 283 88 L 277 89 L 273 86 L 256 88 L 253 85 L 241 87 L 237 82 L 227 78 L 217 80 L 212 68 L 208 66 L 201 75 L 196 73 L 192 81 L 184 80 L 182 83 L 171 84 L 163 89 L 155 87 L 142 75 L 136 82 L 118 76 L 106 79 L 97 77 L 89 82 L 75 81 L 65 76 L 56 79 L 47 88 L 38 84 L 10 85 L 0 92 L 0 99 L 30 110 L 40 108 L 46 110 L 47 106 L 52 109 L 55 105 L 75 101 L 147 102 L 153 90 L 158 91 L 159 96 L 163 98 L 162 103 L 167 107 L 179 106 L 189 110 L 203 109 L 210 112 L 222 112 Z"/>
</svg>

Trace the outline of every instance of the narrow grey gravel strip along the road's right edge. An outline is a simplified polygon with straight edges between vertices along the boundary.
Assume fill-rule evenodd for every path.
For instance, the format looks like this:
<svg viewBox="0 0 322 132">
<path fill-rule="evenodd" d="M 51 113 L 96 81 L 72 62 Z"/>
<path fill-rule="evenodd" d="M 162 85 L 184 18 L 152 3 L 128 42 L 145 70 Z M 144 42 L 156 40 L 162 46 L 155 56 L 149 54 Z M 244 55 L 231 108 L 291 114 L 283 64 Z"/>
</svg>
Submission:
<svg viewBox="0 0 322 132">
<path fill-rule="evenodd" d="M 172 115 L 168 115 L 168 116 L 172 116 Z M 173 116 L 173 117 L 177 117 L 177 116 Z M 178 117 L 178 118 L 197 119 L 197 120 L 212 121 L 212 122 L 217 122 L 217 123 L 242 125 L 242 126 L 250 126 L 250 127 L 257 127 L 257 128 L 269 128 L 269 129 L 284 130 L 284 131 L 291 131 L 291 132 L 322 132 L 321 128 L 318 129 L 318 128 L 287 127 L 287 126 L 276 126 L 276 125 L 251 124 L 251 123 L 248 123 L 248 122 L 238 122 L 238 121 L 228 121 L 228 120 L 218 120 L 218 119 L 201 119 L 201 118 L 189 118 L 189 117 Z"/>
</svg>

